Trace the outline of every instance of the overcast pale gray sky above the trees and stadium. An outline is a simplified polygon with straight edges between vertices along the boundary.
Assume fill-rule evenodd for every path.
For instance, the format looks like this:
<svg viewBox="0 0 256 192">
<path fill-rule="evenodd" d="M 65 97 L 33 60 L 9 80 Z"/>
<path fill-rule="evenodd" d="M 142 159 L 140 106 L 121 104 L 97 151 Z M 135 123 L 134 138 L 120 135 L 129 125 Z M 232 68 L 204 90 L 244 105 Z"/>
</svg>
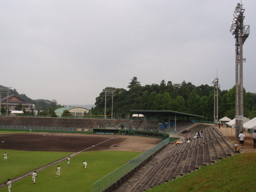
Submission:
<svg viewBox="0 0 256 192">
<path fill-rule="evenodd" d="M 94 104 L 105 87 L 161 80 L 235 84 L 229 32 L 239 1 L 2 0 L 0 84 L 31 99 Z M 255 8 L 244 0 L 246 91 L 256 92 Z"/>
</svg>

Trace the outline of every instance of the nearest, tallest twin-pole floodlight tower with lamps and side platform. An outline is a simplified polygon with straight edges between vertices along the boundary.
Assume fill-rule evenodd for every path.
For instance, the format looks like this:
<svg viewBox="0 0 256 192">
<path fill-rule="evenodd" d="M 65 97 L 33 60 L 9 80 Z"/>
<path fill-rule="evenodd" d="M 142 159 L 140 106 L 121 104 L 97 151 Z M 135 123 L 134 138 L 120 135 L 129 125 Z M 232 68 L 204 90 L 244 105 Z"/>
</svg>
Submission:
<svg viewBox="0 0 256 192">
<path fill-rule="evenodd" d="M 240 131 L 243 131 L 243 44 L 250 34 L 250 25 L 243 25 L 243 5 L 238 3 L 235 7 L 233 20 L 230 25 L 230 33 L 236 40 L 236 141 Z M 239 63 L 239 86 L 238 86 Z"/>
</svg>

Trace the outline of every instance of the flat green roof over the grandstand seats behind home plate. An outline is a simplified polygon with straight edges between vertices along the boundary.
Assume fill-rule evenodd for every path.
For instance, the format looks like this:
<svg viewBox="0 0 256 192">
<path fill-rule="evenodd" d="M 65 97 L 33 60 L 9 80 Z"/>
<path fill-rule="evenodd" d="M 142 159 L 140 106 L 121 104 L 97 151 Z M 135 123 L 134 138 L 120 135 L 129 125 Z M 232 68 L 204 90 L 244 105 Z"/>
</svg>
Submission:
<svg viewBox="0 0 256 192">
<path fill-rule="evenodd" d="M 177 117 L 204 117 L 204 116 L 200 116 L 200 115 L 193 115 L 193 114 L 189 114 L 189 113 L 182 113 L 182 112 L 177 112 L 177 111 L 169 111 L 169 110 L 131 110 L 134 113 L 139 113 L 139 114 L 143 114 L 143 115 L 170 115 L 170 116 L 174 116 L 176 114 Z"/>
</svg>

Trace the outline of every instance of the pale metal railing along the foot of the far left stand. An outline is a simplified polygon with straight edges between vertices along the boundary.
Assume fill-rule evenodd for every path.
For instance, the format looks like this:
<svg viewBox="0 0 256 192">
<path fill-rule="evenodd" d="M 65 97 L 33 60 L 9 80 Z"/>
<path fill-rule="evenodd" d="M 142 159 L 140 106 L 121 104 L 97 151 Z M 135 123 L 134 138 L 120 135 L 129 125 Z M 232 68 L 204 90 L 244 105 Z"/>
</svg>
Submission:
<svg viewBox="0 0 256 192">
<path fill-rule="evenodd" d="M 77 131 L 77 129 L 89 129 L 79 127 L 42 127 L 42 126 L 19 126 L 19 125 L 0 125 L 0 129 L 24 129 L 24 130 L 50 130 L 50 131 Z M 81 131 L 82 132 L 82 131 Z"/>
</svg>

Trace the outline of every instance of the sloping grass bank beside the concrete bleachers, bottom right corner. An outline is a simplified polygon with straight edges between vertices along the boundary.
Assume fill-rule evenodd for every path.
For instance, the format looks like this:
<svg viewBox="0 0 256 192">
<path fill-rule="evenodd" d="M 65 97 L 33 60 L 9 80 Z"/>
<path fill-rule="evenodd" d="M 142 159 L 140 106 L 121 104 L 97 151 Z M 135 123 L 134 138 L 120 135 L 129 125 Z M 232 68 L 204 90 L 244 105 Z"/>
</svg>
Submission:
<svg viewBox="0 0 256 192">
<path fill-rule="evenodd" d="M 255 192 L 256 153 L 237 154 L 147 192 Z"/>
</svg>

